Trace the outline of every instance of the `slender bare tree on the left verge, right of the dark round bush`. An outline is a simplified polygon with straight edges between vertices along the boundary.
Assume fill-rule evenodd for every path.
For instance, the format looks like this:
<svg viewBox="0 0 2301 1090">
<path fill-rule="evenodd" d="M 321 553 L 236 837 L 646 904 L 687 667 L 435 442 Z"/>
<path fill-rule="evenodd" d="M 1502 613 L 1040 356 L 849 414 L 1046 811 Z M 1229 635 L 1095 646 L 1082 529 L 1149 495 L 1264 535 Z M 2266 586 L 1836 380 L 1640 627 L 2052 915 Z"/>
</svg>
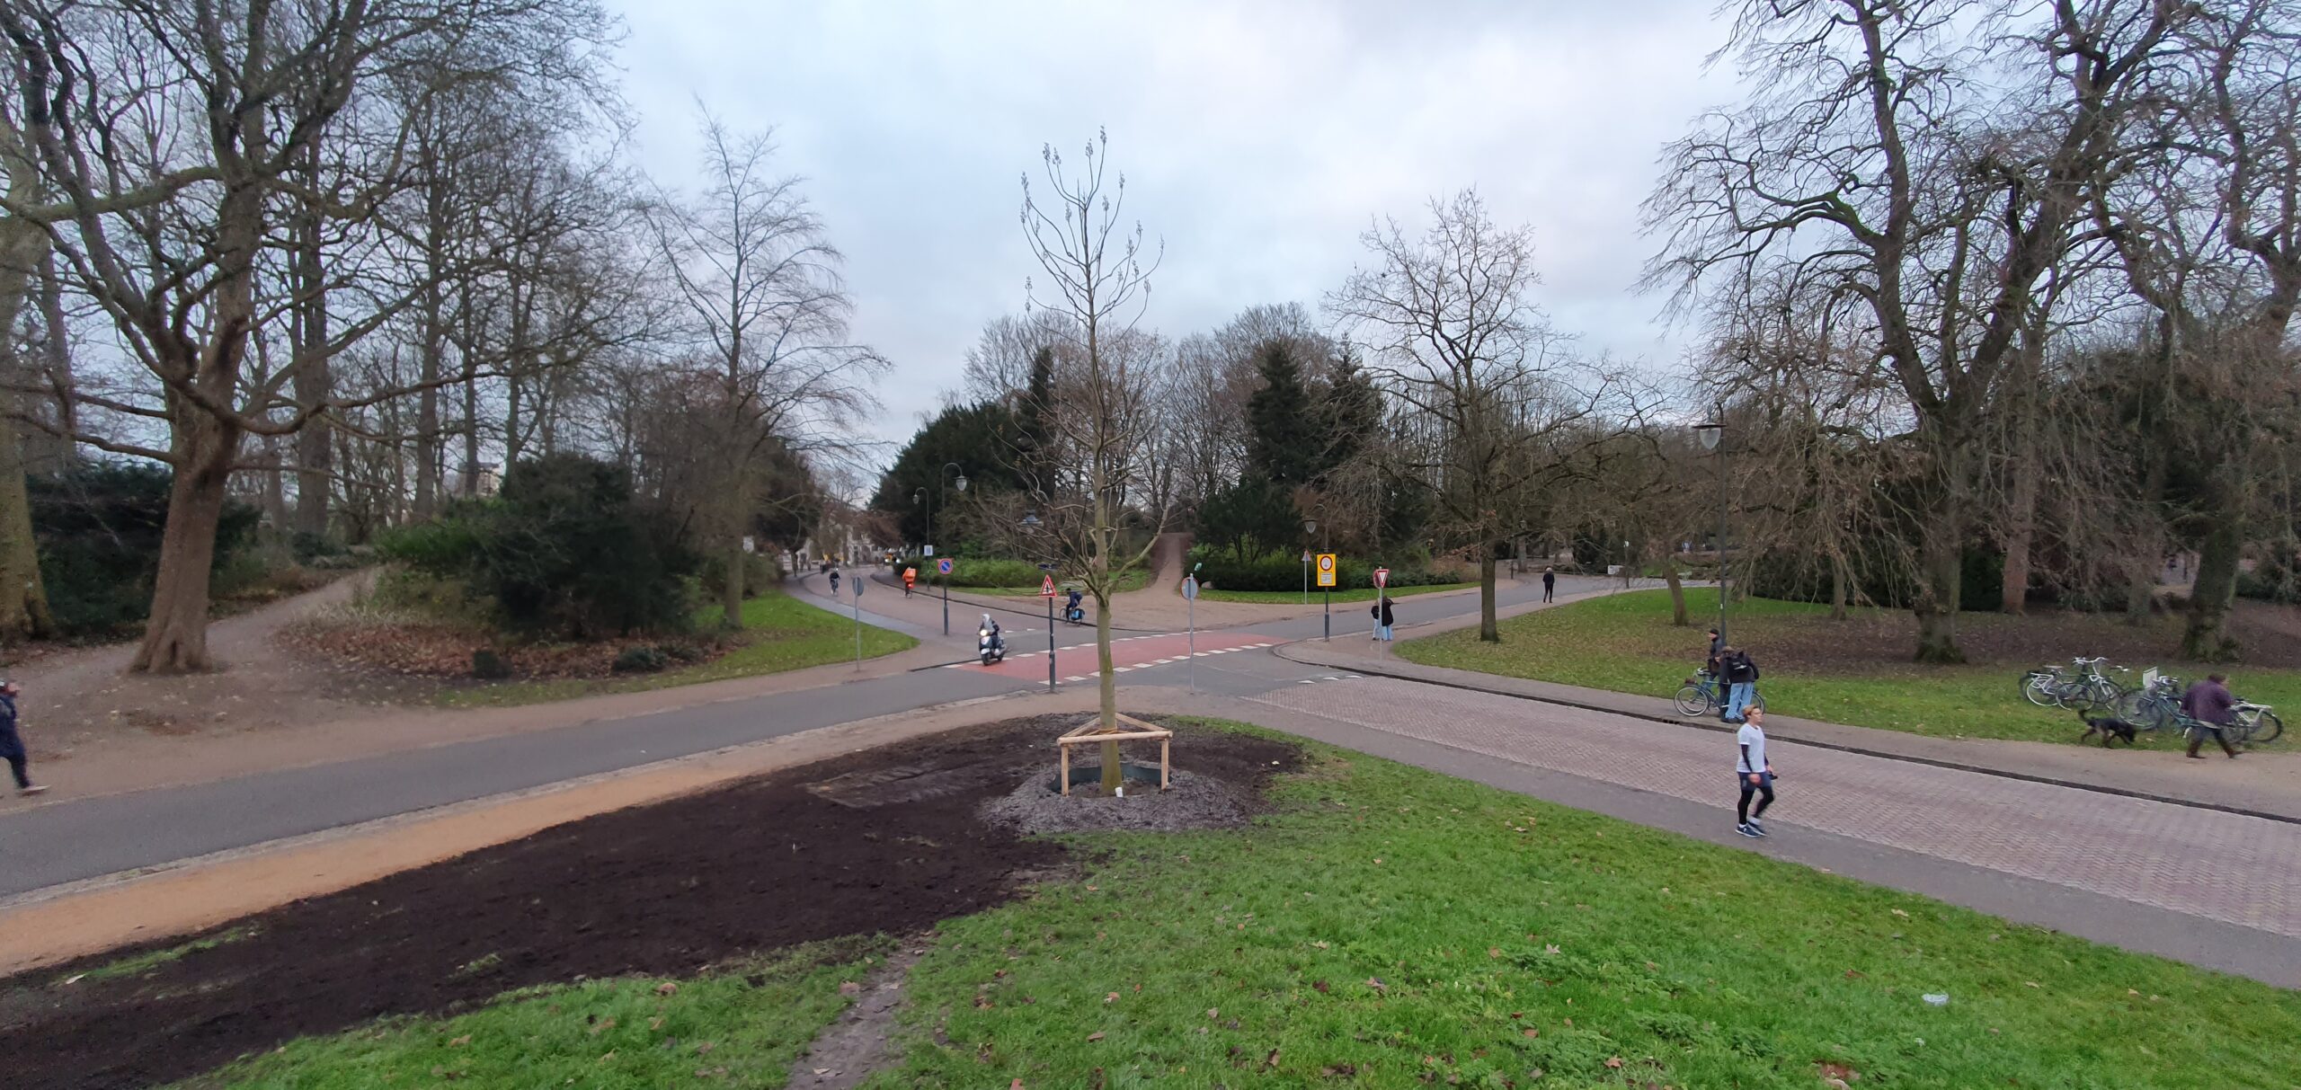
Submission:
<svg viewBox="0 0 2301 1090">
<path fill-rule="evenodd" d="M 851 301 L 840 253 L 801 195 L 773 175 L 771 133 L 734 136 L 704 120 L 704 189 L 665 198 L 653 223 L 679 301 L 709 359 L 716 405 L 709 442 L 725 478 L 718 534 L 727 628 L 743 625 L 743 540 L 759 506 L 759 458 L 780 444 L 801 455 L 851 448 L 844 425 L 872 407 L 865 382 L 886 370 L 849 345 Z"/>
</svg>

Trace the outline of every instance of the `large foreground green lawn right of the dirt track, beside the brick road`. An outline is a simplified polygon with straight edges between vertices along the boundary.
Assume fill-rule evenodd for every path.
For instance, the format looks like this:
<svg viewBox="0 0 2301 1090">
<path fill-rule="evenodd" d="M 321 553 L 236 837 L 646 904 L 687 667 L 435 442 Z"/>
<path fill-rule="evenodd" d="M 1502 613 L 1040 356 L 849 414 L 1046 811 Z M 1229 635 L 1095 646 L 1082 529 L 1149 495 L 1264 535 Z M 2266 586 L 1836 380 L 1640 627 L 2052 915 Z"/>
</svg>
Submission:
<svg viewBox="0 0 2301 1090">
<path fill-rule="evenodd" d="M 946 922 L 867 1085 L 2292 1083 L 2301 993 L 1314 754 L 1252 830 L 1084 835 Z"/>
</svg>

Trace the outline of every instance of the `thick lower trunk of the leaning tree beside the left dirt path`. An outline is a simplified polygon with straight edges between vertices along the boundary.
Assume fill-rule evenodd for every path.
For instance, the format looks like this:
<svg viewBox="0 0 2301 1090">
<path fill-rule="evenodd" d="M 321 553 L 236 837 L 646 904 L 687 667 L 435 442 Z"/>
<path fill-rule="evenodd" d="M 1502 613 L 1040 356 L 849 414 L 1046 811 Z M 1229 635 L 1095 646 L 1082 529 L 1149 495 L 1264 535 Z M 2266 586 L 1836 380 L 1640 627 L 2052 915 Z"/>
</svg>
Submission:
<svg viewBox="0 0 2301 1090">
<path fill-rule="evenodd" d="M 177 402 L 175 485 L 159 543 L 152 619 L 129 669 L 193 674 L 214 669 L 207 658 L 207 575 L 216 563 L 216 522 L 239 453 L 239 430 Z"/>
</svg>

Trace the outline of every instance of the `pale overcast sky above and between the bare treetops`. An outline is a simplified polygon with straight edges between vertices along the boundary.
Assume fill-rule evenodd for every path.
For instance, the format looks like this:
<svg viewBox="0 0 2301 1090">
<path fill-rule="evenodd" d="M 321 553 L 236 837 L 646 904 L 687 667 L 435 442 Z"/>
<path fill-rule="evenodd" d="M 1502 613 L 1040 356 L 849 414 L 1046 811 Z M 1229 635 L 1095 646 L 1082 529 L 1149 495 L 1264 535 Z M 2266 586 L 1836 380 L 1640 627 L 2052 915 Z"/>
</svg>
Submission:
<svg viewBox="0 0 2301 1090">
<path fill-rule="evenodd" d="M 1102 126 L 1127 209 L 1164 239 L 1144 324 L 1213 329 L 1358 264 L 1374 216 L 1475 184 L 1530 223 L 1542 304 L 1590 350 L 1673 366 L 1631 281 L 1661 145 L 1733 97 L 1703 71 L 1710 0 L 764 2 L 610 0 L 637 156 L 693 177 L 697 99 L 773 126 L 847 253 L 856 336 L 895 361 L 907 439 L 983 324 L 1024 306 L 1019 177 Z M 1321 315 L 1323 320 L 1323 315 Z"/>
</svg>

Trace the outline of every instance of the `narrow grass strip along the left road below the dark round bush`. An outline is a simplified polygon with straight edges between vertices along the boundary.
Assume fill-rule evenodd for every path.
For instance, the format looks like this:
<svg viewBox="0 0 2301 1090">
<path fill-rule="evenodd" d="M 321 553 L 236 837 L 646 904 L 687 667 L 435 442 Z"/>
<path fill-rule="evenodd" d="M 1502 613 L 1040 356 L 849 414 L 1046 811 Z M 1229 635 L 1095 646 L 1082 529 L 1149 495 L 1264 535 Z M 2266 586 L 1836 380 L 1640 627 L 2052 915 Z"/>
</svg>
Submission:
<svg viewBox="0 0 2301 1090">
<path fill-rule="evenodd" d="M 697 625 L 718 625 L 723 607 L 697 614 Z M 833 616 L 805 605 L 782 591 L 762 591 L 743 602 L 743 632 L 739 646 L 711 662 L 665 669 L 660 674 L 633 674 L 621 678 L 566 678 L 566 681 L 506 681 L 497 685 L 458 685 L 439 690 L 439 704 L 453 708 L 543 704 L 555 699 L 594 697 L 601 692 L 642 692 L 672 685 L 697 685 L 704 681 L 750 678 L 759 674 L 782 674 L 787 669 L 842 662 L 856 655 L 854 621 Z M 893 655 L 918 646 L 902 632 L 863 625 L 863 658 Z"/>
</svg>

